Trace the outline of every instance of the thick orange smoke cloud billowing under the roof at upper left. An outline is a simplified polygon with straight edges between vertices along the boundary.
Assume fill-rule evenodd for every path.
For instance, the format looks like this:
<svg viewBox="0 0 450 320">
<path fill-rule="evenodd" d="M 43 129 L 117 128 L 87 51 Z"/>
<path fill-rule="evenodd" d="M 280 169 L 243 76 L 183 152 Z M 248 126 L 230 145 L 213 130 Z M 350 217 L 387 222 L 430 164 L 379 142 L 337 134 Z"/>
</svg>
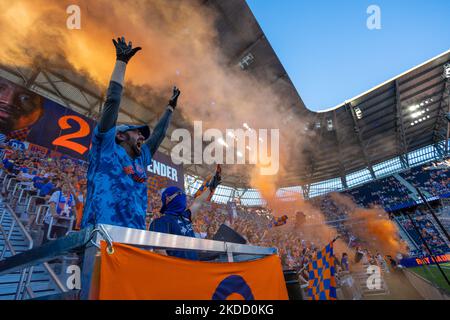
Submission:
<svg viewBox="0 0 450 320">
<path fill-rule="evenodd" d="M 0 2 L 0 63 L 72 68 L 105 88 L 115 60 L 111 39 L 124 35 L 143 48 L 129 64 L 126 76 L 127 94 L 143 105 L 156 104 L 162 111 L 176 84 L 182 91 L 178 112 L 189 121 L 203 121 L 204 130 L 242 128 L 245 122 L 253 129 L 280 129 L 283 150 L 296 150 L 287 145 L 302 144 L 295 130 L 282 125 L 290 112 L 280 112 L 288 105 L 284 97 L 263 79 L 242 71 L 240 57 L 224 56 L 217 14 L 204 1 L 78 0 L 70 4 L 81 9 L 80 30 L 66 26 L 67 2 Z M 282 163 L 287 158 L 280 155 Z M 248 167 L 240 170 L 242 176 L 249 175 Z"/>
</svg>

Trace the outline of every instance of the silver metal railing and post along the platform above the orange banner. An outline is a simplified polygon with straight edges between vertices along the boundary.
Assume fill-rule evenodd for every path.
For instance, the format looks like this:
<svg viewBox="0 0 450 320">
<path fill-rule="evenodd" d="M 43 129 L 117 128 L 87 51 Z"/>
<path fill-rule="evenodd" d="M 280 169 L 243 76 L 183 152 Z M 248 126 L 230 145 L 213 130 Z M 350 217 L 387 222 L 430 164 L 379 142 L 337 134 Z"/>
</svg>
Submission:
<svg viewBox="0 0 450 320">
<path fill-rule="evenodd" d="M 24 231 L 26 232 L 26 230 Z M 5 260 L 0 260 L 0 275 L 23 270 L 24 268 L 41 263 L 44 263 L 44 266 L 46 266 L 46 262 L 55 257 L 62 256 L 76 249 L 83 249 L 81 299 L 87 299 L 92 286 L 94 286 L 91 283 L 91 276 L 101 240 L 105 240 L 111 249 L 113 249 L 113 243 L 125 243 L 144 249 L 195 250 L 222 253 L 226 254 L 227 260 L 230 262 L 234 261 L 234 258 L 239 255 L 249 260 L 248 255 L 259 258 L 277 253 L 276 248 L 255 247 L 111 225 L 97 225 L 95 228 L 90 227 L 79 232 L 71 232 L 63 238 L 48 242 L 40 247 L 6 258 Z M 92 245 L 89 245 L 90 243 Z M 47 269 L 47 271 L 49 271 L 50 276 L 60 291 L 67 292 L 67 288 L 51 272 L 51 269 Z M 27 278 L 26 285 L 29 284 L 30 279 L 30 277 Z"/>
</svg>

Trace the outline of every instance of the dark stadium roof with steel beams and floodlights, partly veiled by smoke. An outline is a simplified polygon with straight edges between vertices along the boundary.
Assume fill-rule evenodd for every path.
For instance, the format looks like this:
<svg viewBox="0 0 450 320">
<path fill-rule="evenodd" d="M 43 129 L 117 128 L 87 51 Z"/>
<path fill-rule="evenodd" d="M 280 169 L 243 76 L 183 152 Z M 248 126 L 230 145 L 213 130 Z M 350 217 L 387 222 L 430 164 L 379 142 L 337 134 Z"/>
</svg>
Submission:
<svg viewBox="0 0 450 320">
<path fill-rule="evenodd" d="M 449 84 L 443 72 L 444 65 L 450 62 L 450 51 L 342 105 L 325 112 L 312 112 L 304 105 L 246 2 L 205 0 L 204 4 L 218 12 L 216 26 L 220 45 L 230 67 L 239 66 L 241 60 L 250 54 L 252 63 L 242 72 L 248 72 L 288 97 L 287 105 L 279 106 L 280 112 L 289 118 L 287 126 L 294 128 L 299 127 L 299 123 L 308 124 L 300 129 L 307 137 L 302 141 L 306 142 L 289 148 L 292 150 L 289 169 L 280 176 L 280 186 L 309 185 L 341 178 L 346 187 L 348 174 L 367 169 L 375 178 L 374 165 L 401 156 L 404 166 L 407 166 L 408 159 L 404 155 L 423 146 L 436 144 L 442 154 L 448 152 L 447 144 L 441 146 L 439 142 L 448 139 L 444 113 L 449 111 Z M 1 67 L 0 76 L 92 117 L 97 116 L 104 97 L 104 92 L 93 83 L 87 83 L 85 77 L 61 66 Z M 427 100 L 428 104 L 420 106 Z M 123 105 L 126 107 L 121 108 L 119 114 L 119 122 L 122 123 L 150 123 L 154 126 L 160 113 L 160 110 L 139 104 L 129 97 L 124 97 Z M 418 109 L 410 111 L 414 105 L 419 105 Z M 419 116 L 419 111 L 425 112 Z M 416 118 L 413 118 L 413 113 Z M 414 121 L 417 124 L 412 125 Z M 191 128 L 192 124 L 177 114 L 167 135 L 179 127 Z M 164 139 L 160 151 L 168 154 L 171 148 L 170 139 Z M 299 157 L 306 162 L 300 164 Z M 188 174 L 206 177 L 213 167 L 187 165 L 185 170 Z M 248 181 L 248 173 L 243 170 L 224 177 L 224 184 L 230 186 L 247 187 Z"/>
</svg>

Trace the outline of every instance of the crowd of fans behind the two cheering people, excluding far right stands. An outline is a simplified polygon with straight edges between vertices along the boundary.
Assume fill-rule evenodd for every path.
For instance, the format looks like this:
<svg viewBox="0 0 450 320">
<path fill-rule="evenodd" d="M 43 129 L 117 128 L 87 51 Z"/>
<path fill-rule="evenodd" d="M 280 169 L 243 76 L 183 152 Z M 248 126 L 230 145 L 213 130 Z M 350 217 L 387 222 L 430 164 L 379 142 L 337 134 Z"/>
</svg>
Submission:
<svg viewBox="0 0 450 320">
<path fill-rule="evenodd" d="M 2 162 L 3 169 L 16 174 L 20 182 L 29 184 L 29 192 L 43 197 L 45 201 L 60 191 L 64 184 L 69 184 L 81 197 L 85 195 L 86 164 L 69 158 L 49 158 L 45 154 L 29 150 L 4 147 L 2 152 L 6 153 Z M 325 199 L 321 210 L 329 214 L 328 219 L 345 216 L 345 212 L 340 212 L 340 207 L 331 199 Z M 148 224 L 151 219 L 158 217 L 160 207 L 160 195 L 156 192 L 151 193 Z M 28 228 L 33 227 L 33 218 L 30 218 Z M 274 227 L 273 221 L 271 211 L 263 207 L 237 205 L 236 216 L 232 217 L 226 205 L 209 202 L 196 215 L 193 225 L 199 237 L 211 239 L 222 224 L 227 224 L 241 234 L 249 244 L 278 248 L 283 267 L 302 270 L 303 276 L 307 278 L 306 266 L 326 243 L 306 241 L 302 239 L 301 233 L 294 232 L 288 226 Z M 348 270 L 348 258 L 343 260 L 343 266 L 339 263 L 337 267 Z"/>
</svg>

